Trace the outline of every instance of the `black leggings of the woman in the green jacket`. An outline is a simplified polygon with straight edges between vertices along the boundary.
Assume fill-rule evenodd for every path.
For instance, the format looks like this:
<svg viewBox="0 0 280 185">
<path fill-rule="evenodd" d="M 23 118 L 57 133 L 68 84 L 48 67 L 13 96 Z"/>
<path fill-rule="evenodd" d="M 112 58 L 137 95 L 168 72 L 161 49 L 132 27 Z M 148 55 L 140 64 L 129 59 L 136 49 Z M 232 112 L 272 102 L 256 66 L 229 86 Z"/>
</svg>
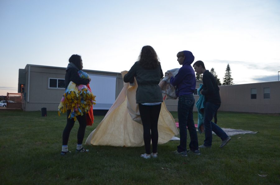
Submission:
<svg viewBox="0 0 280 185">
<path fill-rule="evenodd" d="M 157 152 L 158 131 L 157 122 L 161 111 L 160 105 L 142 105 L 139 103 L 139 112 L 143 125 L 143 137 L 146 154 L 151 154 L 151 139 L 153 153 Z"/>
</svg>

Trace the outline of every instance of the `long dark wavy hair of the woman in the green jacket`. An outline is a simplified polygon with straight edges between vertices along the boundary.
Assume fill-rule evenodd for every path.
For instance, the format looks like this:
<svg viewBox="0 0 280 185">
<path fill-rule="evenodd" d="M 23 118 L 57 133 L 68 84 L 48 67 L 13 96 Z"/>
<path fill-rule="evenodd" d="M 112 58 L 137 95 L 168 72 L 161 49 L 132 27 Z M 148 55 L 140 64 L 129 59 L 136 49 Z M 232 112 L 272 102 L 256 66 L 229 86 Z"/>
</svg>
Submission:
<svg viewBox="0 0 280 185">
<path fill-rule="evenodd" d="M 143 46 L 138 57 L 139 64 L 145 69 L 155 69 L 160 65 L 159 58 L 152 46 Z"/>
</svg>

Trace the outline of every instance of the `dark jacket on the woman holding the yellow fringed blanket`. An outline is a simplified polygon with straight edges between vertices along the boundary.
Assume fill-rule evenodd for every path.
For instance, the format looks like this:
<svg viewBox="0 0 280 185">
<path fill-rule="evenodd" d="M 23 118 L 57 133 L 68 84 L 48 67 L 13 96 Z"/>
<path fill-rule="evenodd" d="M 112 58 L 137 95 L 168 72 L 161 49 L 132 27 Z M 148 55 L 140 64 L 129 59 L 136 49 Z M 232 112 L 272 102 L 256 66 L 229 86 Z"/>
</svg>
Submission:
<svg viewBox="0 0 280 185">
<path fill-rule="evenodd" d="M 65 74 L 65 89 L 67 89 L 70 81 L 76 83 L 77 85 L 86 85 L 89 83 L 89 79 L 83 79 L 78 75 L 79 69 L 73 64 L 69 63 L 66 68 Z"/>
</svg>

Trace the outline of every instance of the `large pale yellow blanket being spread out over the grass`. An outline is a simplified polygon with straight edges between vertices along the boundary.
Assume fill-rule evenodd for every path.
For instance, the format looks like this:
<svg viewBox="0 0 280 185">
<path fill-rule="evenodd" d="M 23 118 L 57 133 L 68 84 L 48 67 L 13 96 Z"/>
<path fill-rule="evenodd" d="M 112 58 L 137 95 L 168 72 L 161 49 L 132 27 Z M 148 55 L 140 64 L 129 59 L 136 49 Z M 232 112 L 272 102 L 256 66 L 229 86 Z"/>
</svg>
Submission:
<svg viewBox="0 0 280 185">
<path fill-rule="evenodd" d="M 123 71 L 122 76 L 126 73 L 127 71 Z M 139 124 L 141 121 L 139 121 L 139 115 L 137 115 L 138 104 L 135 101 L 138 86 L 136 80 L 134 81 L 134 86 L 124 83 L 124 88 L 104 119 L 87 137 L 87 145 L 144 146 L 143 126 Z M 133 112 L 135 112 L 135 115 L 132 114 Z M 165 103 L 162 102 L 158 120 L 158 143 L 166 143 L 177 134 L 179 132 L 175 121 L 170 112 L 167 111 Z"/>
</svg>

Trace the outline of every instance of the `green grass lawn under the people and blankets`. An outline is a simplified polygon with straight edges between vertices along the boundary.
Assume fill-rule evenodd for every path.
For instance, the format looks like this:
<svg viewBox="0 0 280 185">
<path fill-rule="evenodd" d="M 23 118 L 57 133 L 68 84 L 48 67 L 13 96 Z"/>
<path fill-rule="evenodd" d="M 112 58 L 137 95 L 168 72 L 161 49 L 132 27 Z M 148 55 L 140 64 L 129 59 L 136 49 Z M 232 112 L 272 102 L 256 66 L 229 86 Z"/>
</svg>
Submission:
<svg viewBox="0 0 280 185">
<path fill-rule="evenodd" d="M 280 184 L 279 114 L 218 112 L 220 127 L 258 133 L 232 136 L 223 148 L 213 135 L 200 156 L 176 156 L 179 141 L 169 141 L 148 160 L 140 158 L 144 147 L 86 146 L 89 153 L 75 154 L 78 123 L 68 142 L 72 153 L 60 156 L 66 115 L 47 114 L 0 110 L 0 184 Z M 95 116 L 84 141 L 103 117 Z"/>
</svg>

